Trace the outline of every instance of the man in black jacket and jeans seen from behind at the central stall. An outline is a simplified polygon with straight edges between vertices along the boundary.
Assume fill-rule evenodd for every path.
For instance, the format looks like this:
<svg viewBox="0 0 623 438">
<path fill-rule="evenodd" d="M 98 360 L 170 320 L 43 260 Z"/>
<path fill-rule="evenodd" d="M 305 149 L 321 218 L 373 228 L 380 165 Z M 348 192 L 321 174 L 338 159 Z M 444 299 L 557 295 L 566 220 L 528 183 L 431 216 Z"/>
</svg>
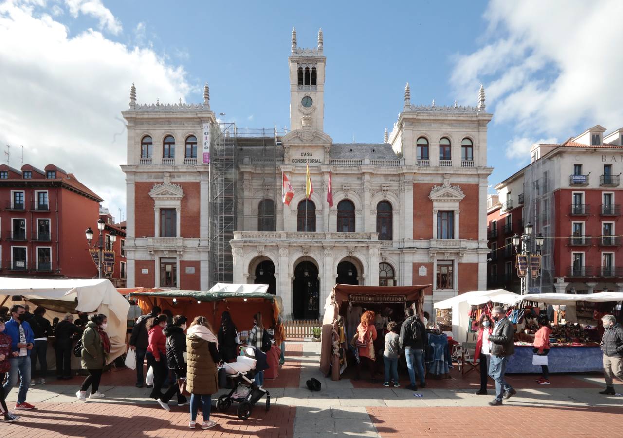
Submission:
<svg viewBox="0 0 623 438">
<path fill-rule="evenodd" d="M 414 315 L 411 307 L 405 310 L 406 320 L 402 323 L 400 328 L 400 337 L 398 342 L 400 348 L 404 349 L 404 356 L 407 359 L 407 371 L 409 371 L 409 379 L 411 384 L 406 386 L 406 389 L 411 391 L 417 391 L 416 386 L 416 369 L 417 376 L 420 379 L 420 386 L 424 388 L 426 386 L 425 373 L 424 373 L 424 338 L 426 337 L 426 328 L 424 324 L 419 320 L 417 315 Z"/>
</svg>

